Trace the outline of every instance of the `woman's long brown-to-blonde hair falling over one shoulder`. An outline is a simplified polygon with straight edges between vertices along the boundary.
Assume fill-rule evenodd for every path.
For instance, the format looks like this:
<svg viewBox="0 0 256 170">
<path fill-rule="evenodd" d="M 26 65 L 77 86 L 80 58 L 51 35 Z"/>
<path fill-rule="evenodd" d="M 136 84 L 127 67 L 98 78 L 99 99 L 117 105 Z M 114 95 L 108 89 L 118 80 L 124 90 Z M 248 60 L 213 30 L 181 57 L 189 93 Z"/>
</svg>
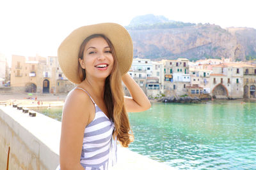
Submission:
<svg viewBox="0 0 256 170">
<path fill-rule="evenodd" d="M 103 34 L 93 34 L 88 38 L 84 39 L 83 43 L 80 46 L 78 57 L 83 59 L 84 47 L 90 41 L 90 39 L 102 37 L 104 38 L 109 47 L 114 59 L 113 69 L 111 74 L 105 80 L 105 89 L 104 89 L 104 102 L 108 109 L 109 117 L 115 123 L 115 131 L 113 136 L 120 141 L 121 145 L 128 147 L 133 139 L 129 118 L 124 106 L 124 90 L 122 87 L 122 75 L 118 69 L 118 62 L 116 59 L 115 48 L 111 41 L 104 36 Z M 78 62 L 78 74 L 81 81 L 85 80 L 86 73 L 85 70 L 81 67 Z"/>
</svg>

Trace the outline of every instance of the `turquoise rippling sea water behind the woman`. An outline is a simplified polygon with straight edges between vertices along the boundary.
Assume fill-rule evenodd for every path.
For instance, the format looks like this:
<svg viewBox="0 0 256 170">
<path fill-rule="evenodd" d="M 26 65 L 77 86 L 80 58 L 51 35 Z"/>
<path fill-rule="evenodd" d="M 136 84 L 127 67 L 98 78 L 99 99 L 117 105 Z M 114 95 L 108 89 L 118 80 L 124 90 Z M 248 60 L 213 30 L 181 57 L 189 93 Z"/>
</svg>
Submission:
<svg viewBox="0 0 256 170">
<path fill-rule="evenodd" d="M 36 110 L 61 121 L 62 108 Z M 178 169 L 256 169 L 256 103 L 153 103 L 129 113 L 130 150 Z"/>
</svg>

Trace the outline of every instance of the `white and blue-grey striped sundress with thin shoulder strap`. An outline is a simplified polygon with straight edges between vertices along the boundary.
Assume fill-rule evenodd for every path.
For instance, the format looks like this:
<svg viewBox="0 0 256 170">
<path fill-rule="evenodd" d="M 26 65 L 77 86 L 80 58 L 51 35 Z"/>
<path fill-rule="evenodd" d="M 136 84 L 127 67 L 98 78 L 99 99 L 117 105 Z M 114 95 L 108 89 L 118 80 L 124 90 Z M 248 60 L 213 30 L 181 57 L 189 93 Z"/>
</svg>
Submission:
<svg viewBox="0 0 256 170">
<path fill-rule="evenodd" d="M 100 110 L 91 96 L 90 99 L 95 106 L 95 118 L 84 129 L 80 163 L 85 170 L 106 170 L 116 163 L 116 139 L 113 139 L 115 124 Z"/>
</svg>

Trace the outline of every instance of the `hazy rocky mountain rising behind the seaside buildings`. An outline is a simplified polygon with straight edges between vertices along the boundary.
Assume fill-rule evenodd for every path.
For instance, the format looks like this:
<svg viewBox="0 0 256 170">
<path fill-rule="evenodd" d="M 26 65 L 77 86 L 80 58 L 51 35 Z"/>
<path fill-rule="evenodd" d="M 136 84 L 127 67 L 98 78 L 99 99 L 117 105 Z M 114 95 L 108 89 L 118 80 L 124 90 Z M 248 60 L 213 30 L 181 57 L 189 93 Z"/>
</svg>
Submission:
<svg viewBox="0 0 256 170">
<path fill-rule="evenodd" d="M 126 28 L 134 43 L 134 57 L 256 59 L 256 29 L 223 29 L 219 25 L 175 22 L 152 15 L 136 17 Z"/>
</svg>

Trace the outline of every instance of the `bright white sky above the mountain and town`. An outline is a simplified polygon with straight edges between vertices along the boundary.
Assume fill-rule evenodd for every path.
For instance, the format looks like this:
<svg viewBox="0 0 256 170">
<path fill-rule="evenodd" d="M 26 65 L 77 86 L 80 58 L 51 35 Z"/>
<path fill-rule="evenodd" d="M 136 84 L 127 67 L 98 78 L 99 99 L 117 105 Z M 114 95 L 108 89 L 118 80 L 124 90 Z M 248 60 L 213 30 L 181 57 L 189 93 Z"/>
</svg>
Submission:
<svg viewBox="0 0 256 170">
<path fill-rule="evenodd" d="M 129 25 L 138 15 L 169 20 L 256 29 L 255 0 L 1 0 L 0 53 L 56 56 L 70 32 L 83 25 Z"/>
</svg>

